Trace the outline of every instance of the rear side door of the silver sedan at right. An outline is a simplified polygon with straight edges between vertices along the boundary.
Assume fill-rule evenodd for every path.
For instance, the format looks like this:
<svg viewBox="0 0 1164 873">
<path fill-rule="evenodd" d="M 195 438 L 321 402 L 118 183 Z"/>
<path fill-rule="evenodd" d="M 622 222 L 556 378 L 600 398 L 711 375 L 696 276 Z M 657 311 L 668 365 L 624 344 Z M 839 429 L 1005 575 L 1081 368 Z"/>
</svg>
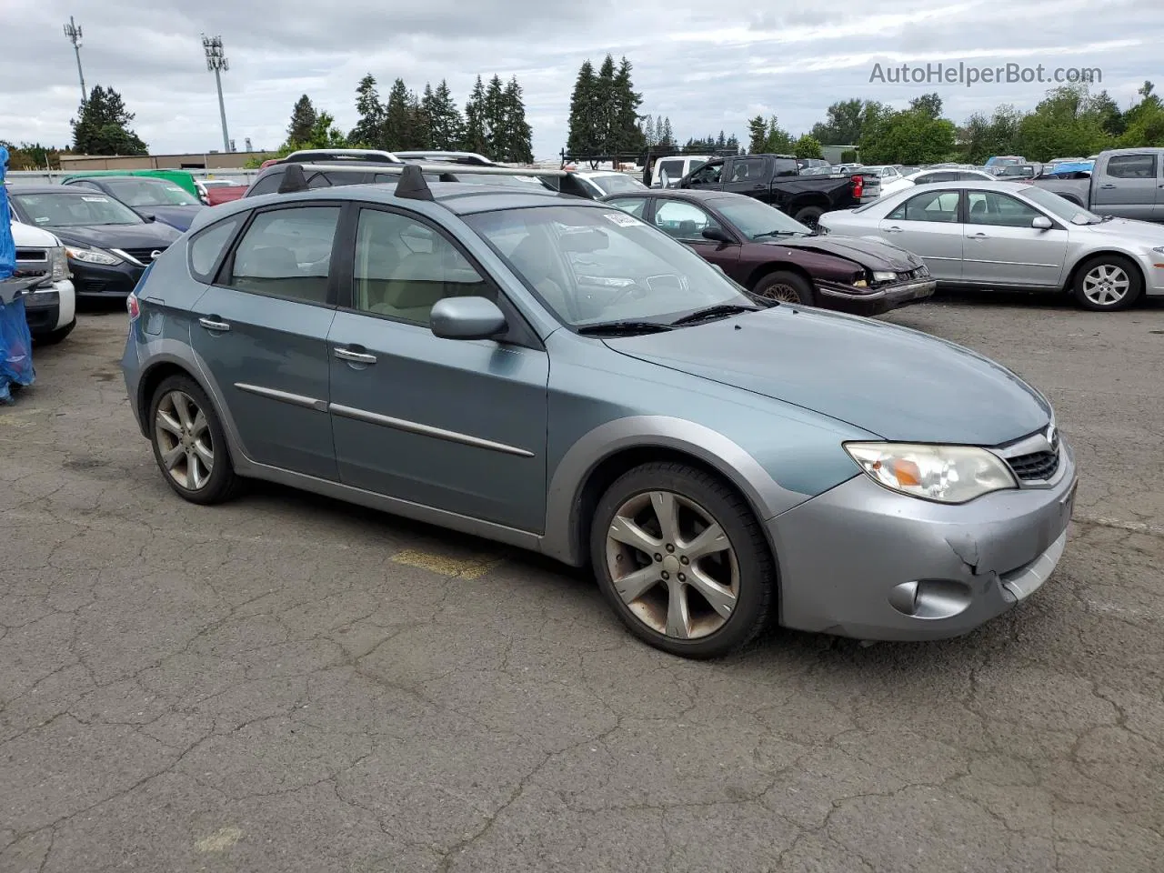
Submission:
<svg viewBox="0 0 1164 873">
<path fill-rule="evenodd" d="M 957 190 L 914 194 L 878 222 L 887 242 L 925 261 L 936 279 L 961 279 L 963 230 Z"/>
</svg>

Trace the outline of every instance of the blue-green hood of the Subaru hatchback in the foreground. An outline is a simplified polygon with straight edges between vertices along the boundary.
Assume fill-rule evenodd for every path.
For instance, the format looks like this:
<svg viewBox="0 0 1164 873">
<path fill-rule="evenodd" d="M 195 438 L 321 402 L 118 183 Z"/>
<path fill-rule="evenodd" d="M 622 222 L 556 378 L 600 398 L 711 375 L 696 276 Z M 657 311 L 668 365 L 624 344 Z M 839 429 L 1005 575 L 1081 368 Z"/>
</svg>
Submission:
<svg viewBox="0 0 1164 873">
<path fill-rule="evenodd" d="M 605 342 L 624 355 L 792 403 L 887 440 L 996 446 L 1051 419 L 1042 395 L 970 349 L 823 310 L 780 304 Z"/>
</svg>

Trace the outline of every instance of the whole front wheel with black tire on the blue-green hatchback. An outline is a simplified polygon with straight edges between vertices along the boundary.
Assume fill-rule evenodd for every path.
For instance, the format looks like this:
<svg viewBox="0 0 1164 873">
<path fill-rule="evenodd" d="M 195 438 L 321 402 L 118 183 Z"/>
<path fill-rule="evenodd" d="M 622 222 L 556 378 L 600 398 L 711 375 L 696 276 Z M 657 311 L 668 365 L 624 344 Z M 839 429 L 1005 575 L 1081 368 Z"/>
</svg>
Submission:
<svg viewBox="0 0 1164 873">
<path fill-rule="evenodd" d="M 656 506 L 677 519 L 667 528 L 673 535 L 659 535 Z M 725 534 L 702 556 L 696 554 L 700 533 L 710 524 L 701 527 L 701 518 Z M 611 484 L 592 520 L 590 558 L 598 587 L 645 643 L 681 658 L 719 658 L 751 643 L 768 624 L 775 563 L 751 508 L 718 477 L 683 463 L 643 464 Z"/>
</svg>

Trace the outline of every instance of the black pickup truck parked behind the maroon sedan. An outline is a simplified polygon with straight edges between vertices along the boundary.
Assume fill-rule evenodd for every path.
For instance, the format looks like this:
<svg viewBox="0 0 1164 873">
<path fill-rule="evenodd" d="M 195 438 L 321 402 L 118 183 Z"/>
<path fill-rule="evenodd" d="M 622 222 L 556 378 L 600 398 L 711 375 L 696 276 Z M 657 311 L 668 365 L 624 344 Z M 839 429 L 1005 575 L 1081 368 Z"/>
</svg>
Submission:
<svg viewBox="0 0 1164 873">
<path fill-rule="evenodd" d="M 740 155 L 709 161 L 679 180 L 696 191 L 731 191 L 775 206 L 815 228 L 825 212 L 850 210 L 875 197 L 875 178 L 801 176 L 793 155 Z"/>
</svg>

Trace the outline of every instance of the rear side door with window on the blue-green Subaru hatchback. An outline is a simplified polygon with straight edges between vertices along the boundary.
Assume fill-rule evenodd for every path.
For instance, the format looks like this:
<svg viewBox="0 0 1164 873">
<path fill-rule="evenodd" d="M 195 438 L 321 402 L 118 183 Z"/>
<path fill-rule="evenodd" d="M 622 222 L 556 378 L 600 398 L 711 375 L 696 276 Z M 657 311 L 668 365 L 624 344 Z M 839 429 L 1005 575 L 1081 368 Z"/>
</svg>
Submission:
<svg viewBox="0 0 1164 873">
<path fill-rule="evenodd" d="M 254 213 L 193 306 L 191 345 L 251 461 L 338 478 L 327 414 L 333 241 L 342 206 Z"/>
</svg>

